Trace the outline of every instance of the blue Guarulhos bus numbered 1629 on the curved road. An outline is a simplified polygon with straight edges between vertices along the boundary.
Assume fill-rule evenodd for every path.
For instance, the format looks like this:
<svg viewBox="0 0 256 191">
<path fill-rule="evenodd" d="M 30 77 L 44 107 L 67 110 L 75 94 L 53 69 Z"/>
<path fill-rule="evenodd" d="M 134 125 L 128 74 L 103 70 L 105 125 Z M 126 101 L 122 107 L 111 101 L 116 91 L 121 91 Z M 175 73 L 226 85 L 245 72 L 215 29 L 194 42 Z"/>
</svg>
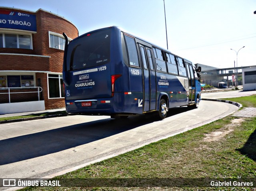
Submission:
<svg viewBox="0 0 256 191">
<path fill-rule="evenodd" d="M 112 118 L 198 106 L 200 67 L 112 26 L 85 33 L 68 44 L 63 81 L 68 113 Z"/>
</svg>

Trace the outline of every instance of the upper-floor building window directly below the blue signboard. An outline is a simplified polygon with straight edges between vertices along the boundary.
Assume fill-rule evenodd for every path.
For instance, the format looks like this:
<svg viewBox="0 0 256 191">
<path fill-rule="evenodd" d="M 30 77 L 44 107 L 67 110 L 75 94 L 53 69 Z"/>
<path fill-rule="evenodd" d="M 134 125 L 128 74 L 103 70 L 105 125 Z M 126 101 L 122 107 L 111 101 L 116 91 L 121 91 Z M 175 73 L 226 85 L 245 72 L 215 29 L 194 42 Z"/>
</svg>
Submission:
<svg viewBox="0 0 256 191">
<path fill-rule="evenodd" d="M 0 34 L 0 48 L 32 49 L 32 36 L 20 34 Z"/>
</svg>

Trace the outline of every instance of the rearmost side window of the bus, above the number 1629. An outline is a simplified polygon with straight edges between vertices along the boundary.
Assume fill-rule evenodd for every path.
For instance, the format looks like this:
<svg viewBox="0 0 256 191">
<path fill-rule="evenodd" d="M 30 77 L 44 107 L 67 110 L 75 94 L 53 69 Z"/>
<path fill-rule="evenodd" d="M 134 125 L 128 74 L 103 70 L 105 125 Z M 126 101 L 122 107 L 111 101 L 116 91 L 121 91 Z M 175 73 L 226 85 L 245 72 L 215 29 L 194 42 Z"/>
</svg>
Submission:
<svg viewBox="0 0 256 191">
<path fill-rule="evenodd" d="M 125 37 L 126 46 L 127 46 L 127 50 L 128 50 L 128 57 L 129 57 L 130 66 L 140 67 L 135 40 L 131 37 L 126 36 L 126 35 L 124 35 L 124 37 Z"/>
</svg>

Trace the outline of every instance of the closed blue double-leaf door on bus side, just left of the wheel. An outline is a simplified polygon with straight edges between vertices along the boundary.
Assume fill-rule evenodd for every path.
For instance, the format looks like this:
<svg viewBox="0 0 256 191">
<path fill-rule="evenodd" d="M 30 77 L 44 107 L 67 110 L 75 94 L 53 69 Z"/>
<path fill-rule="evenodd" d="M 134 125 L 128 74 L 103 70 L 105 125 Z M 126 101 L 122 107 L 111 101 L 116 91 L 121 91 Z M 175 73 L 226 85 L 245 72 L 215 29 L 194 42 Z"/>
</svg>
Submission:
<svg viewBox="0 0 256 191">
<path fill-rule="evenodd" d="M 143 65 L 143 112 L 147 112 L 156 109 L 156 74 L 151 48 L 140 44 L 140 56 Z"/>
</svg>

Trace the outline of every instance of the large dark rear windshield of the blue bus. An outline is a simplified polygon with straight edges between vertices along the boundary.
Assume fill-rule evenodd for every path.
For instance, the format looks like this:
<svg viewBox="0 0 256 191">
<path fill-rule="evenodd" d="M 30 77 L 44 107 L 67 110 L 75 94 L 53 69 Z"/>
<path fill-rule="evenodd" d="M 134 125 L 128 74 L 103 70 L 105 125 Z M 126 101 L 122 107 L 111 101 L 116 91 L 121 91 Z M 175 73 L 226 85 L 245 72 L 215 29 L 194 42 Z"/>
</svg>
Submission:
<svg viewBox="0 0 256 191">
<path fill-rule="evenodd" d="M 92 32 L 70 41 L 67 71 L 86 69 L 110 62 L 111 30 Z"/>
</svg>

